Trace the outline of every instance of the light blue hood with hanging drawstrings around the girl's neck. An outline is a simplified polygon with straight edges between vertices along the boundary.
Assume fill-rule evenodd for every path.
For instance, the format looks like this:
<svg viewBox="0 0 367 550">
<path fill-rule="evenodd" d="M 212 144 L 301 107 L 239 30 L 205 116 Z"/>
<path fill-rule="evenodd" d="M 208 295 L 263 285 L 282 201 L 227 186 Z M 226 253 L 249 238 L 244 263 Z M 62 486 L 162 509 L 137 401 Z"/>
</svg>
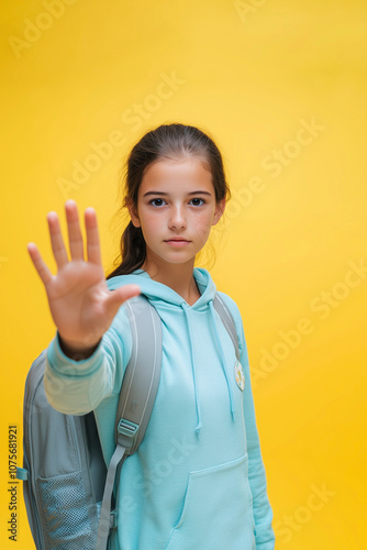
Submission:
<svg viewBox="0 0 367 550">
<path fill-rule="evenodd" d="M 225 365 L 225 356 L 223 352 L 222 342 L 219 336 L 218 322 L 221 322 L 215 309 L 214 309 L 214 298 L 216 294 L 216 287 L 214 282 L 211 278 L 210 273 L 202 267 L 193 268 L 193 277 L 198 285 L 200 292 L 200 298 L 190 306 L 187 301 L 170 287 L 158 283 L 151 278 L 147 272 L 144 270 L 135 270 L 130 275 L 119 275 L 116 277 L 112 277 L 107 280 L 108 288 L 113 290 L 114 288 L 120 287 L 121 285 L 136 284 L 141 287 L 142 294 L 147 297 L 148 301 L 154 306 L 159 315 L 159 310 L 169 309 L 175 315 L 185 315 L 187 330 L 190 339 L 190 355 L 191 355 L 191 371 L 193 378 L 193 387 L 194 387 L 194 403 L 197 409 L 197 433 L 200 432 L 202 427 L 201 421 L 201 408 L 200 408 L 200 395 L 198 387 L 198 361 L 196 349 L 193 345 L 192 338 L 192 316 L 197 312 L 208 311 L 210 315 L 211 323 L 213 327 L 214 341 L 213 345 L 216 346 L 218 353 L 220 355 L 221 365 L 223 370 L 223 374 L 225 376 L 229 397 L 230 397 L 230 407 L 232 418 L 234 420 L 234 397 L 232 394 L 232 387 L 229 380 L 229 373 Z"/>
</svg>

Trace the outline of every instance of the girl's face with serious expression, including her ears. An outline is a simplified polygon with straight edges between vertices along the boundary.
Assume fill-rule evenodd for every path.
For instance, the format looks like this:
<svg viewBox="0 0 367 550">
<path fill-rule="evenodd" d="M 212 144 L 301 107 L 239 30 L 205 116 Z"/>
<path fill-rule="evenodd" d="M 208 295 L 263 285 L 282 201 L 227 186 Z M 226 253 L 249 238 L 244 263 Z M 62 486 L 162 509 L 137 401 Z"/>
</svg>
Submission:
<svg viewBox="0 0 367 550">
<path fill-rule="evenodd" d="M 143 176 L 133 224 L 142 228 L 146 262 L 163 265 L 194 262 L 225 199 L 215 202 L 211 173 L 198 158 L 158 161 Z"/>
</svg>

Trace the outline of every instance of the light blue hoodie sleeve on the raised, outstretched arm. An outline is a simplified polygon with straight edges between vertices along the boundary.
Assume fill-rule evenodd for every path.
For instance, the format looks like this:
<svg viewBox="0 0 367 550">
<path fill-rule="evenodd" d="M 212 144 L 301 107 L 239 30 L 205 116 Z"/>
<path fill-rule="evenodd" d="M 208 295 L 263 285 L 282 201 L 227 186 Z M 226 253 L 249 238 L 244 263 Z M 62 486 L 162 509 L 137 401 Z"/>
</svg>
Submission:
<svg viewBox="0 0 367 550">
<path fill-rule="evenodd" d="M 96 409 L 102 399 L 120 393 L 131 353 L 131 328 L 123 307 L 92 355 L 82 361 L 65 355 L 56 331 L 46 353 L 44 387 L 47 400 L 66 415 L 86 415 Z"/>
</svg>

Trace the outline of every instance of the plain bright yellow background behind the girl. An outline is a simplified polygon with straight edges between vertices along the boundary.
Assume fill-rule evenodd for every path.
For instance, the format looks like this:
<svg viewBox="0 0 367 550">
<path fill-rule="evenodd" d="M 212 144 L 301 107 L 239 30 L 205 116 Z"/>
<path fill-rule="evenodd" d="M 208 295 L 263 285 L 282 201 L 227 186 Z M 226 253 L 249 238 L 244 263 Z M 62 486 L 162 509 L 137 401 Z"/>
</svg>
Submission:
<svg viewBox="0 0 367 550">
<path fill-rule="evenodd" d="M 211 133 L 234 194 L 211 272 L 243 316 L 276 548 L 363 548 L 367 277 L 351 270 L 367 265 L 366 2 L 46 4 L 1 2 L 1 548 L 34 548 L 23 504 L 8 541 L 7 433 L 18 425 L 20 464 L 24 378 L 55 334 L 26 243 L 55 273 L 46 215 L 66 235 L 73 198 L 96 208 L 110 268 L 121 163 L 167 122 Z M 65 191 L 111 133 L 120 145 Z"/>
</svg>

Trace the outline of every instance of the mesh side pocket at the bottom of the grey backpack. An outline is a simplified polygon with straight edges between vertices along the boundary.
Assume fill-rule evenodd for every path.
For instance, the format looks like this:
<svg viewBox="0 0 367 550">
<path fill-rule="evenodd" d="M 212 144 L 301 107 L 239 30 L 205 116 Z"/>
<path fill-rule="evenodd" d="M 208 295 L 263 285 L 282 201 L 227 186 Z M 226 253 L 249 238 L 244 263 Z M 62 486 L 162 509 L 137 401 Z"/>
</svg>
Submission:
<svg viewBox="0 0 367 550">
<path fill-rule="evenodd" d="M 81 473 L 38 477 L 46 548 L 93 550 L 93 532 Z"/>
</svg>

